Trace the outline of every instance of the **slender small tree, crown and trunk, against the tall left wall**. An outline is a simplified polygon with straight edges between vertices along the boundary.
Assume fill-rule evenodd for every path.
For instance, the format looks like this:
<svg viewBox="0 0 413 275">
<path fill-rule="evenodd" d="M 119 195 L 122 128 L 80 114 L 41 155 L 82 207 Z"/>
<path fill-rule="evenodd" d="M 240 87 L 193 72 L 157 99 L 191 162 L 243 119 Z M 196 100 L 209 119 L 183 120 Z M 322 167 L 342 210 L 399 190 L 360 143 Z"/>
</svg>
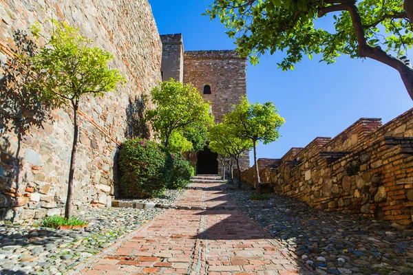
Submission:
<svg viewBox="0 0 413 275">
<path fill-rule="evenodd" d="M 65 217 L 72 217 L 72 190 L 74 189 L 74 167 L 78 143 L 78 109 L 81 98 L 87 95 L 103 96 L 115 91 L 125 78 L 117 69 L 110 69 L 108 63 L 112 54 L 92 46 L 92 41 L 81 35 L 64 21 L 51 20 L 52 36 L 42 34 L 39 24 L 32 26 L 32 34 L 45 41 L 39 53 L 34 56 L 34 69 L 42 77 L 33 83 L 41 87 L 42 94 L 52 98 L 58 106 L 70 105 L 73 110 L 73 144 L 70 158 L 69 179 Z"/>
</svg>

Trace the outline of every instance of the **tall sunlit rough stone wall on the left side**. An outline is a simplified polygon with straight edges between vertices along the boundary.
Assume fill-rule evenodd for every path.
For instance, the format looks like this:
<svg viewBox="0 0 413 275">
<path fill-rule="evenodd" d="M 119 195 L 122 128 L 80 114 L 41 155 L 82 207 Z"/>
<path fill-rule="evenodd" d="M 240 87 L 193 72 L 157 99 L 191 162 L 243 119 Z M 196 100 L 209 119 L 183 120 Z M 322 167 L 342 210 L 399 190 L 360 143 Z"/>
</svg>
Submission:
<svg viewBox="0 0 413 275">
<path fill-rule="evenodd" d="M 147 0 L 6 0 L 0 3 L 0 58 L 14 47 L 15 30 L 28 30 L 45 19 L 64 19 L 114 54 L 112 67 L 127 84 L 105 98 L 83 98 L 80 104 L 80 142 L 74 175 L 76 208 L 110 206 L 114 196 L 114 157 L 118 145 L 134 133 L 128 125 L 139 119 L 140 95 L 149 94 L 161 80 L 162 44 Z M 67 194 L 73 124 L 70 109 L 59 109 L 44 129 L 23 138 L 19 181 L 14 181 L 12 155 L 17 138 L 1 137 L 0 216 L 39 219 L 61 214 Z M 135 133 L 136 134 L 136 133 Z M 150 135 L 150 133 L 149 133 Z"/>
</svg>

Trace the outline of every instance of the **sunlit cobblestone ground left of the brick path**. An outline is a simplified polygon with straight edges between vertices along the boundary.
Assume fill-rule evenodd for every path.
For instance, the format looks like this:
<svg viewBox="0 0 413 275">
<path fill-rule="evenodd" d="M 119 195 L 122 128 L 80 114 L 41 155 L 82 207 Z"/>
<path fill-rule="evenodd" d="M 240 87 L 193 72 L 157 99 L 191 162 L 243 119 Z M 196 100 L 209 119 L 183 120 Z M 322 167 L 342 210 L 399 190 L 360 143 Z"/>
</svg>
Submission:
<svg viewBox="0 0 413 275">
<path fill-rule="evenodd" d="M 161 212 L 161 209 L 92 208 L 78 214 L 89 222 L 84 230 L 3 223 L 0 274 L 63 274 Z"/>
</svg>

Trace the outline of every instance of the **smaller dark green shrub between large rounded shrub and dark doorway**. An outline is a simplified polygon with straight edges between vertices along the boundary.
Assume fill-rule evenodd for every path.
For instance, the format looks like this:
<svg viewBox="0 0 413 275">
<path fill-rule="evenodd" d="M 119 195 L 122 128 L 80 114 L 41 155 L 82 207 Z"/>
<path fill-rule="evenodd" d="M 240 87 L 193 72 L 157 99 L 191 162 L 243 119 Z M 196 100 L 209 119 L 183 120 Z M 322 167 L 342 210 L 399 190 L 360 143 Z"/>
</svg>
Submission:
<svg viewBox="0 0 413 275">
<path fill-rule="evenodd" d="M 189 184 L 189 179 L 194 175 L 191 163 L 180 154 L 172 154 L 173 170 L 168 189 L 182 189 Z"/>
</svg>

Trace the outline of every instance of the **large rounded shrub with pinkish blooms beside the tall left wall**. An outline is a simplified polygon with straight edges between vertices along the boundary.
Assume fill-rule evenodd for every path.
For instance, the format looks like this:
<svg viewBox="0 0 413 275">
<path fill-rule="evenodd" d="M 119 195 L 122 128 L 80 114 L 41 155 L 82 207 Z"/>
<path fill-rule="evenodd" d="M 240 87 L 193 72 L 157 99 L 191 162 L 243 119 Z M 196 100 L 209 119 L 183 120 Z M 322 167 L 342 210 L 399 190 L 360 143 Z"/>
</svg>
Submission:
<svg viewBox="0 0 413 275">
<path fill-rule="evenodd" d="M 171 180 L 173 159 L 160 144 L 141 138 L 127 140 L 118 159 L 123 197 L 150 198 L 163 194 Z"/>
</svg>

